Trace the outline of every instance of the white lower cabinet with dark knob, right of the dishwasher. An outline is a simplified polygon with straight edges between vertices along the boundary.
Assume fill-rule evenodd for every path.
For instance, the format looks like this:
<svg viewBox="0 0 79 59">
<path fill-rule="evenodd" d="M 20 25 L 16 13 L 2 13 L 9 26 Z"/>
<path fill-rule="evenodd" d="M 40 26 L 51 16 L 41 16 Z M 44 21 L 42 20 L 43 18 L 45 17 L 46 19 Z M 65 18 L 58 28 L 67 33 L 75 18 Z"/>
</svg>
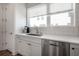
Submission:
<svg viewBox="0 0 79 59">
<path fill-rule="evenodd" d="M 70 56 L 79 56 L 78 44 L 70 44 Z"/>
</svg>

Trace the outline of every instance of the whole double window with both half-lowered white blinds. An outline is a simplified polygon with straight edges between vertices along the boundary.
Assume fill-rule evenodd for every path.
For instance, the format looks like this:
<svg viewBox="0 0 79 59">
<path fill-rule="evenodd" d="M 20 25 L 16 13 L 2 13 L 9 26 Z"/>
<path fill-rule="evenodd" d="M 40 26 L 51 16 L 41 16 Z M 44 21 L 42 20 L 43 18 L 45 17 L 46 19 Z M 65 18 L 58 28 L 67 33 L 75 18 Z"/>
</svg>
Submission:
<svg viewBox="0 0 79 59">
<path fill-rule="evenodd" d="M 39 4 L 27 8 L 28 23 L 30 27 L 73 26 L 73 10 L 72 3 Z"/>
</svg>

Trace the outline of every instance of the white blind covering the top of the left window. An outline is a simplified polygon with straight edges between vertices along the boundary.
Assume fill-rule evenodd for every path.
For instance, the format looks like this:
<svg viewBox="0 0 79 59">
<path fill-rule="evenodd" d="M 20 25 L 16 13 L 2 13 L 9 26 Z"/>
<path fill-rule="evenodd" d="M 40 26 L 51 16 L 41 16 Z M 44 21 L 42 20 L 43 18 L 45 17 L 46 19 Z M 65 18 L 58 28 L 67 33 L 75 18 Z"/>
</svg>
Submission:
<svg viewBox="0 0 79 59">
<path fill-rule="evenodd" d="M 40 4 L 34 7 L 30 7 L 27 9 L 27 17 L 34 17 L 39 15 L 47 14 L 47 6 L 46 4 Z"/>
</svg>

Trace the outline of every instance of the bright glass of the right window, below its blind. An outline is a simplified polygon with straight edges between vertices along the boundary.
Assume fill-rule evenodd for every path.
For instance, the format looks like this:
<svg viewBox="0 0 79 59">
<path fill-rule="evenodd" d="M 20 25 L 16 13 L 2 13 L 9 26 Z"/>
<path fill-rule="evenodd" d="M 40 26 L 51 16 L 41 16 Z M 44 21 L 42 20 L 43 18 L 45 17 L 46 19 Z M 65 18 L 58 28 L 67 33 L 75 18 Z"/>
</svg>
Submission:
<svg viewBox="0 0 79 59">
<path fill-rule="evenodd" d="M 69 12 L 50 15 L 51 26 L 71 25 Z"/>
</svg>

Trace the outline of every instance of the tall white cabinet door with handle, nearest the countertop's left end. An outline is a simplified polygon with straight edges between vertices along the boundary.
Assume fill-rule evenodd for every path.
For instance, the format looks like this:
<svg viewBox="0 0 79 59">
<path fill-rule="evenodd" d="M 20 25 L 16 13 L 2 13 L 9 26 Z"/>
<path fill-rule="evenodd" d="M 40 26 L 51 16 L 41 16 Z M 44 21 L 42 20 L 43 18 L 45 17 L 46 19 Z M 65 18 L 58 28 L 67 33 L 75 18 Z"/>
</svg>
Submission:
<svg viewBox="0 0 79 59">
<path fill-rule="evenodd" d="M 6 42 L 7 49 L 15 52 L 15 40 L 14 40 L 14 5 L 8 4 L 6 6 Z"/>
</svg>

